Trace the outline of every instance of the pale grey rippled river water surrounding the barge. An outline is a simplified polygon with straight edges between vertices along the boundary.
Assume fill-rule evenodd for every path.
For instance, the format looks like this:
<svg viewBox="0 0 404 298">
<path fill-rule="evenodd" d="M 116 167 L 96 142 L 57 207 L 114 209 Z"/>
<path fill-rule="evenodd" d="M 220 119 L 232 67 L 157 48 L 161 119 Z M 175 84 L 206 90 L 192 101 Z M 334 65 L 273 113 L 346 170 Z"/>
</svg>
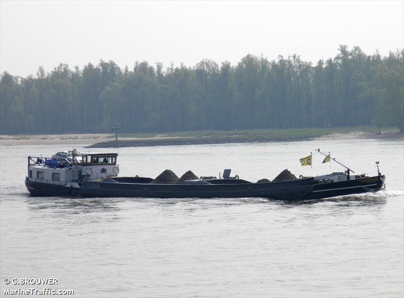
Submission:
<svg viewBox="0 0 404 298">
<path fill-rule="evenodd" d="M 72 148 L 86 150 L 80 146 Z M 74 290 L 72 297 L 404 295 L 402 139 L 91 149 L 119 151 L 121 176 L 232 168 L 257 181 L 285 168 L 296 176 L 342 171 L 322 164 L 320 148 L 356 173 L 376 175 L 380 161 L 386 190 L 374 194 L 299 203 L 30 197 L 26 156 L 72 148 L 1 147 L 0 296 L 44 287 Z M 310 152 L 313 168 L 300 166 Z M 20 278 L 58 284 L 13 284 Z"/>
</svg>

